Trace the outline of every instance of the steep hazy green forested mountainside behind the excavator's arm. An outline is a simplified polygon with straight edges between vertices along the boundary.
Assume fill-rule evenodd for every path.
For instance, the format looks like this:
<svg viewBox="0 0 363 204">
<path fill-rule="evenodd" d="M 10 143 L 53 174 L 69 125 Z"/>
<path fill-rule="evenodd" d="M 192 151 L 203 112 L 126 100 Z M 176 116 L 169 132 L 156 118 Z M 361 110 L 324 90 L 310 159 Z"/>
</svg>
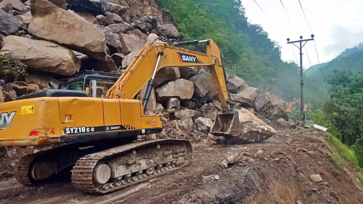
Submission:
<svg viewBox="0 0 363 204">
<path fill-rule="evenodd" d="M 172 14 L 182 40 L 212 38 L 217 42 L 228 73 L 245 79 L 250 86 L 276 86 L 276 95 L 285 101 L 299 98 L 298 65 L 281 60 L 280 45 L 270 40 L 260 25 L 248 22 L 241 0 L 158 2 Z M 305 101 L 321 107 L 326 96 L 327 91 L 315 79 L 305 76 Z"/>
</svg>

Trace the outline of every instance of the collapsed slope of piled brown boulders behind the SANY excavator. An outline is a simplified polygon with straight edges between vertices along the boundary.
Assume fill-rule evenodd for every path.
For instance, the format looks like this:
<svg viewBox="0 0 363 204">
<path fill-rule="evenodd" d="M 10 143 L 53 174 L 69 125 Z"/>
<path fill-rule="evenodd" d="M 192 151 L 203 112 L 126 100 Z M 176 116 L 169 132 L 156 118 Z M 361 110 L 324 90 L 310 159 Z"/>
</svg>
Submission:
<svg viewBox="0 0 363 204">
<path fill-rule="evenodd" d="M 154 0 L 0 0 L 0 8 L 0 55 L 26 66 L 24 74 L 2 73 L 0 102 L 49 89 L 48 81 L 67 81 L 82 70 L 122 71 L 145 43 L 158 36 L 179 38 L 171 16 Z M 245 108 L 240 113 L 254 113 L 259 122 L 287 120 L 281 98 L 236 76 L 229 77 L 228 87 L 237 102 L 234 111 Z M 216 94 L 208 67 L 159 70 L 147 106 L 149 114 L 162 118 L 158 136 L 207 138 L 221 111 Z"/>
</svg>

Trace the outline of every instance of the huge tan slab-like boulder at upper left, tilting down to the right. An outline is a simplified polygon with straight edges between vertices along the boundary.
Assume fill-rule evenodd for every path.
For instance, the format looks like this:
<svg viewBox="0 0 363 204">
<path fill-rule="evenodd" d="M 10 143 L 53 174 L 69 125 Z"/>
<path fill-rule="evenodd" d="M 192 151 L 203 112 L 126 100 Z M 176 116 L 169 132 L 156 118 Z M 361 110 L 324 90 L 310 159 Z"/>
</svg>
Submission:
<svg viewBox="0 0 363 204">
<path fill-rule="evenodd" d="M 65 11 L 49 1 L 31 0 L 31 3 L 33 19 L 29 24 L 29 32 L 34 36 L 64 45 L 92 58 L 105 58 L 107 46 L 102 30 L 76 13 Z"/>
</svg>

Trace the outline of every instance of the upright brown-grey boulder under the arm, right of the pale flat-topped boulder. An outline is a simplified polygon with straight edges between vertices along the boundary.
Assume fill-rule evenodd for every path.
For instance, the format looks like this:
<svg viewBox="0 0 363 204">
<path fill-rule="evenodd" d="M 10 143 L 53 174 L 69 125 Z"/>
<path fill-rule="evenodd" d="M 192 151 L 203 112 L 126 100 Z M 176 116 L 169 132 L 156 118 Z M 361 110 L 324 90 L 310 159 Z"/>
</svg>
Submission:
<svg viewBox="0 0 363 204">
<path fill-rule="evenodd" d="M 200 102 L 205 102 L 208 98 L 213 98 L 217 94 L 212 75 L 208 67 L 203 67 L 189 81 L 194 83 L 193 98 Z"/>
</svg>

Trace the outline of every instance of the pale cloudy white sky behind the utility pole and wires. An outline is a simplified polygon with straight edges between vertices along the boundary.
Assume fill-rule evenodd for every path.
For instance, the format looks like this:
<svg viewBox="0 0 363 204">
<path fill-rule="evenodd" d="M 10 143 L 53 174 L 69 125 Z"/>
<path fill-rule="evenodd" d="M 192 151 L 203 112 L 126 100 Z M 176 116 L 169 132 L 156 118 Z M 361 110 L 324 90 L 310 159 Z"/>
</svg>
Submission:
<svg viewBox="0 0 363 204">
<path fill-rule="evenodd" d="M 284 61 L 295 61 L 293 51 L 287 44 L 290 41 L 311 38 L 298 0 L 281 0 L 289 14 L 286 13 L 280 0 L 256 0 L 267 16 L 253 0 L 242 0 L 246 17 L 252 24 L 260 24 L 269 34 L 269 38 L 281 45 L 281 58 Z M 315 43 L 321 63 L 335 58 L 346 48 L 363 42 L 363 1 L 362 0 L 300 0 L 307 20 L 315 35 Z M 293 46 L 293 45 L 292 45 Z M 299 61 L 299 49 L 293 46 Z M 312 65 L 318 64 L 314 42 L 305 45 Z M 303 67 L 310 64 L 303 48 Z M 296 63 L 296 62 L 295 62 Z"/>
</svg>

